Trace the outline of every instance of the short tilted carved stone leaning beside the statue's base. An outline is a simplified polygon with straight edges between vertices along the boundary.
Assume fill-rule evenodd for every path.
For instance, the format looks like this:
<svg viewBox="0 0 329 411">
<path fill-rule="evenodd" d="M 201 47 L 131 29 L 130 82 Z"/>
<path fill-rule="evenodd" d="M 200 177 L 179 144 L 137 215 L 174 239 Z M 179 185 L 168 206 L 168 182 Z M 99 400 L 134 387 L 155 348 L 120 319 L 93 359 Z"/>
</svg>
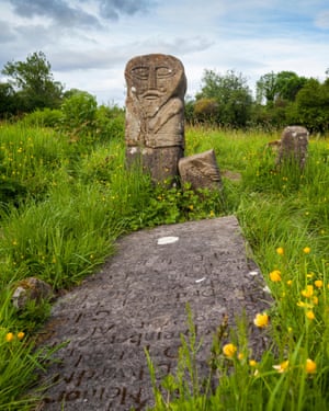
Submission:
<svg viewBox="0 0 329 411">
<path fill-rule="evenodd" d="M 182 185 L 190 183 L 193 190 L 222 189 L 220 173 L 213 149 L 180 159 L 179 172 Z"/>
</svg>

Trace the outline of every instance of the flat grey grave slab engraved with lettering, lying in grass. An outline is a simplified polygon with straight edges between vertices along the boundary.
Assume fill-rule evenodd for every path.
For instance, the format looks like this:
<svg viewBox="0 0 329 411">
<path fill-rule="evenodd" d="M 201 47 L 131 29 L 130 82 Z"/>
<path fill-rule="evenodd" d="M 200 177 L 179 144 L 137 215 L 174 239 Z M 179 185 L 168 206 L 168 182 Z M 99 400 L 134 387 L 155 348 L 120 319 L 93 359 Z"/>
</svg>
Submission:
<svg viewBox="0 0 329 411">
<path fill-rule="evenodd" d="M 59 298 L 45 329 L 46 344 L 69 341 L 44 376 L 53 385 L 46 411 L 127 411 L 152 404 L 144 350 L 163 377 L 177 365 L 180 334 L 188 334 L 190 302 L 197 335 L 201 374 L 213 333 L 227 313 L 246 310 L 253 357 L 266 339 L 252 324 L 268 308 L 261 275 L 245 254 L 235 217 L 143 230 L 122 238 L 102 271 Z"/>
</svg>

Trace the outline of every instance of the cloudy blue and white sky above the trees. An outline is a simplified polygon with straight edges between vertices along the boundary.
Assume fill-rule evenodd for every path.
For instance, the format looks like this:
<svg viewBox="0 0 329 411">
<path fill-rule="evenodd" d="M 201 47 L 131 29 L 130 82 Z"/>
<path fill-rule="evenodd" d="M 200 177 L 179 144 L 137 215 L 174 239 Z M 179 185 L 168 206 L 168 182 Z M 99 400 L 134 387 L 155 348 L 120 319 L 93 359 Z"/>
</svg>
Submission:
<svg viewBox="0 0 329 411">
<path fill-rule="evenodd" d="M 183 62 L 191 96 L 204 69 L 241 72 L 251 89 L 271 71 L 322 81 L 329 1 L 0 0 L 0 69 L 34 52 L 66 89 L 105 104 L 124 104 L 126 62 L 150 53 Z"/>
</svg>

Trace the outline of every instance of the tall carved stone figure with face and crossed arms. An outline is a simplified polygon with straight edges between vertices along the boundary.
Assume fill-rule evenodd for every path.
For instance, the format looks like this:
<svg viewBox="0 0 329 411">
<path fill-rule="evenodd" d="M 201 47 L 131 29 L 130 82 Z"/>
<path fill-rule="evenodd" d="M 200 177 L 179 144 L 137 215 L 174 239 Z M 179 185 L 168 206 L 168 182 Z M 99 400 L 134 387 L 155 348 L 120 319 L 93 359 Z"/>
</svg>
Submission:
<svg viewBox="0 0 329 411">
<path fill-rule="evenodd" d="M 138 56 L 125 78 L 127 164 L 141 161 L 155 182 L 172 180 L 184 155 L 184 67 L 173 56 Z"/>
</svg>

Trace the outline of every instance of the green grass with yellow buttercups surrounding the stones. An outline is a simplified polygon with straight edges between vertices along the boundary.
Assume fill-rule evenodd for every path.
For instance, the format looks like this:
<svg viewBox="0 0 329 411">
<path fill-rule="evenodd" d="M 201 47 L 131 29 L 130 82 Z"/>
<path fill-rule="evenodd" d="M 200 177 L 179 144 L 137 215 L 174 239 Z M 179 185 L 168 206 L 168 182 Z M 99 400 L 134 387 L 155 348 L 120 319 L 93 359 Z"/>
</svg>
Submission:
<svg viewBox="0 0 329 411">
<path fill-rule="evenodd" d="M 209 367 L 216 384 L 203 385 L 190 312 L 179 374 L 162 381 L 166 396 L 155 386 L 156 409 L 327 409 L 329 142 L 311 139 L 300 172 L 294 165 L 275 168 L 266 142 L 277 138 L 259 130 L 188 128 L 186 155 L 214 148 L 219 169 L 241 175 L 224 176 L 223 194 L 203 193 L 201 202 L 189 189 L 152 186 L 140 170 L 125 170 L 124 141 L 117 137 L 72 141 L 52 129 L 2 124 L 0 410 L 33 409 L 35 399 L 26 390 L 52 355 L 35 351 L 49 304 L 16 311 L 10 298 L 18 281 L 37 276 L 55 292 L 70 288 L 114 252 L 122 233 L 229 214 L 238 217 L 275 300 L 263 317 L 273 346 L 254 358 L 242 320 L 235 330 L 218 324 Z M 148 363 L 155 374 L 151 358 Z"/>
</svg>

